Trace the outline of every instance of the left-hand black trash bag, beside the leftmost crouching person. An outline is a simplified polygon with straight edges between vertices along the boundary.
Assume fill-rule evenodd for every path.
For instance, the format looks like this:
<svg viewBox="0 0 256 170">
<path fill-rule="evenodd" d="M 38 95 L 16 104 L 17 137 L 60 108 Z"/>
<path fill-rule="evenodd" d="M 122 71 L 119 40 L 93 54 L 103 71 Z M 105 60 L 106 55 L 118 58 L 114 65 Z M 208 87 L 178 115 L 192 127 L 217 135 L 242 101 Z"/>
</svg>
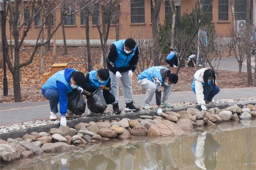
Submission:
<svg viewBox="0 0 256 170">
<path fill-rule="evenodd" d="M 82 115 L 85 112 L 86 102 L 80 90 L 73 90 L 68 94 L 68 110 L 76 115 Z"/>
</svg>

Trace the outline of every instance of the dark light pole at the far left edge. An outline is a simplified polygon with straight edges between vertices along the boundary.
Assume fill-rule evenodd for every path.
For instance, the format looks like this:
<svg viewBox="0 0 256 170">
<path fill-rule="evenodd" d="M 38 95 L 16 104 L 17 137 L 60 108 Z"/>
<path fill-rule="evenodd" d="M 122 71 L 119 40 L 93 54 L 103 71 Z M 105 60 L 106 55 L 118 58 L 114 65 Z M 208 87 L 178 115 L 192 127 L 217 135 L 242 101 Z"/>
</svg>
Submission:
<svg viewBox="0 0 256 170">
<path fill-rule="evenodd" d="M 6 2 L 6 6 L 9 2 Z M 4 77 L 3 77 L 3 88 L 4 88 L 4 96 L 8 96 L 8 79 L 6 77 L 6 62 L 5 62 L 5 58 L 6 58 L 6 52 L 5 51 L 5 45 L 4 45 L 4 38 L 3 38 L 3 32 L 5 31 L 5 28 L 3 27 L 3 22 L 4 20 L 6 20 L 6 17 L 4 16 L 4 0 L 0 0 L 0 11 L 1 11 L 1 38 L 2 38 L 2 47 L 3 47 L 3 64 L 4 64 Z"/>
</svg>

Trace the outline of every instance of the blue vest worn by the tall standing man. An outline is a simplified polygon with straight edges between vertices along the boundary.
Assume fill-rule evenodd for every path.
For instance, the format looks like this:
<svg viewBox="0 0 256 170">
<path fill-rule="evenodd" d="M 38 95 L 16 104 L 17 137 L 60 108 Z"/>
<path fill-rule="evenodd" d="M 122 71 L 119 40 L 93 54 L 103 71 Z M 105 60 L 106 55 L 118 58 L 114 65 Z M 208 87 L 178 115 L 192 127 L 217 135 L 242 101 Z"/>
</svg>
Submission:
<svg viewBox="0 0 256 170">
<path fill-rule="evenodd" d="M 126 55 L 124 52 L 124 42 L 125 40 L 119 40 L 114 42 L 113 44 L 116 46 L 117 50 L 117 58 L 115 60 L 115 65 L 117 68 L 125 68 L 129 66 L 129 62 L 132 59 L 132 56 L 134 56 L 135 51 L 137 49 L 137 46 L 133 49 L 133 52 L 130 55 Z"/>
</svg>

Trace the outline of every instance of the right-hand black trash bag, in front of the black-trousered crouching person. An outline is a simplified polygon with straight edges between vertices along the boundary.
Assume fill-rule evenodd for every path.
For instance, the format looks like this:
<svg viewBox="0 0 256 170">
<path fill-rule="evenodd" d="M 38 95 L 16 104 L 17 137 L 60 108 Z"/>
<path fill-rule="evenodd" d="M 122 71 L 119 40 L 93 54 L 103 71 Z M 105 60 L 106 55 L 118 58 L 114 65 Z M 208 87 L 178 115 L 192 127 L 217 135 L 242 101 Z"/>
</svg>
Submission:
<svg viewBox="0 0 256 170">
<path fill-rule="evenodd" d="M 100 88 L 95 90 L 87 99 L 87 107 L 90 111 L 94 113 L 103 113 L 106 110 L 108 105 L 106 104 Z"/>
</svg>

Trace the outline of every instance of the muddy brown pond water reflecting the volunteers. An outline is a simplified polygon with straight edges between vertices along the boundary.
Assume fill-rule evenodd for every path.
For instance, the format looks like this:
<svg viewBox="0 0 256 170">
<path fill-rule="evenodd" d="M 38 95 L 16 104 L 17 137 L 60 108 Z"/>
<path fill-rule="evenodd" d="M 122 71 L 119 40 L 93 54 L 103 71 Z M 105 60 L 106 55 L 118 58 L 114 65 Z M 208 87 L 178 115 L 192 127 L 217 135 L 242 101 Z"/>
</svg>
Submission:
<svg viewBox="0 0 256 170">
<path fill-rule="evenodd" d="M 109 140 L 1 164 L 20 170 L 254 170 L 256 122 L 222 123 L 190 136 Z M 191 136 L 192 135 L 192 136 Z"/>
</svg>

